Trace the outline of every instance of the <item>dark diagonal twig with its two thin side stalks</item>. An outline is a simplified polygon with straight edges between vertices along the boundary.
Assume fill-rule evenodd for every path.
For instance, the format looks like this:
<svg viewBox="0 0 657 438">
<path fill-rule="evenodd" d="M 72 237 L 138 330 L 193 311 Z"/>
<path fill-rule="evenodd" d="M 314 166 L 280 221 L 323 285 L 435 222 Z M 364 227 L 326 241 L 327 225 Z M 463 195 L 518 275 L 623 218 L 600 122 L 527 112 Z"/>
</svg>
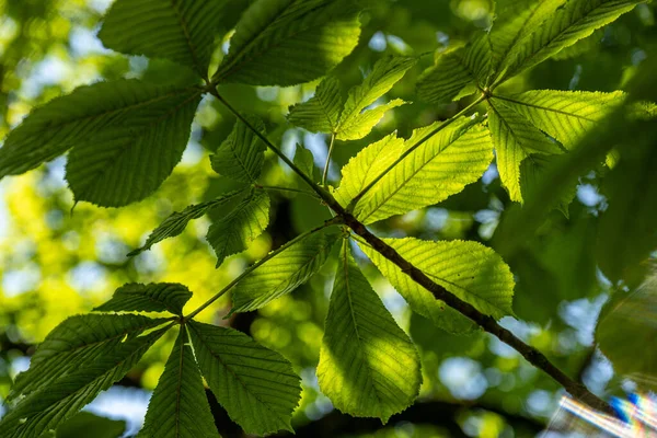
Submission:
<svg viewBox="0 0 657 438">
<path fill-rule="evenodd" d="M 469 302 L 461 300 L 456 295 L 451 293 L 450 291 L 445 289 L 442 286 L 440 286 L 437 283 L 435 283 L 434 280 L 431 280 L 425 273 L 423 273 L 420 269 L 415 267 L 412 263 L 410 263 L 404 257 L 402 257 L 392 246 L 388 245 L 381 239 L 379 239 L 378 237 L 372 234 L 365 227 L 365 224 L 362 222 L 360 222 L 347 209 L 345 209 L 327 191 L 325 191 L 323 187 L 321 187 L 319 185 L 315 185 L 278 148 L 276 148 L 266 137 L 264 137 L 257 129 L 255 129 L 239 112 L 237 112 L 232 106 L 230 106 L 230 104 L 228 104 L 228 102 L 226 102 L 223 100 L 223 97 L 221 97 L 219 95 L 219 93 L 217 93 L 217 90 L 215 88 L 212 88 L 208 91 L 210 93 L 212 93 L 212 95 L 215 95 L 215 97 L 217 97 L 221 103 L 223 103 L 240 120 L 242 120 L 246 125 L 246 127 L 249 127 L 255 135 L 257 135 L 265 142 L 265 145 L 267 145 L 267 147 L 269 149 L 272 149 L 276 154 L 278 154 L 283 159 L 283 161 L 285 161 L 297 174 L 299 174 L 299 176 L 301 176 L 303 178 L 303 181 L 306 181 L 306 183 L 309 184 L 313 188 L 313 191 L 322 198 L 322 200 L 335 212 L 336 217 L 331 219 L 330 221 L 327 221 L 321 228 L 324 228 L 327 224 L 333 224 L 333 223 L 346 224 L 347 227 L 349 227 L 351 229 L 351 231 L 354 231 L 356 234 L 361 237 L 369 245 L 371 245 L 374 251 L 377 251 L 383 257 L 388 258 L 395 266 L 397 266 L 402 270 L 402 273 L 404 273 L 405 275 L 411 277 L 415 283 L 417 283 L 418 285 L 420 285 L 422 287 L 427 289 L 429 292 L 431 292 L 431 295 L 434 295 L 434 297 L 443 301 L 452 309 L 457 310 L 464 316 L 474 321 L 477 325 L 480 325 L 486 332 L 495 335 L 502 342 L 504 342 L 505 344 L 508 344 L 509 346 L 515 348 L 518 353 L 520 353 L 520 355 L 522 355 L 522 357 L 525 357 L 525 359 L 527 359 L 527 361 L 529 361 L 531 365 L 543 370 L 546 374 L 552 377 L 556 382 L 558 382 L 562 387 L 564 387 L 564 389 L 568 393 L 570 393 L 570 395 L 573 395 L 575 399 L 579 400 L 583 403 L 588 404 L 589 406 L 591 406 L 595 410 L 601 411 L 609 415 L 614 415 L 613 410 L 611 408 L 611 406 L 609 404 L 607 404 L 600 397 L 598 397 L 597 395 L 591 393 L 584 384 L 581 384 L 581 383 L 570 379 L 568 376 L 566 376 L 561 369 L 558 369 L 556 366 L 554 366 L 554 364 L 552 364 L 545 357 L 545 355 L 543 355 L 541 351 L 539 351 L 534 347 L 526 344 L 522 339 L 516 337 L 516 335 L 514 335 L 511 332 L 509 332 L 508 330 L 506 330 L 502 325 L 499 325 L 493 316 L 480 312 Z M 474 107 L 476 104 L 481 103 L 485 99 L 487 99 L 487 95 L 484 93 L 481 97 L 479 97 L 471 105 L 463 108 L 461 112 L 459 112 L 452 118 L 446 120 L 442 125 L 440 125 L 434 131 L 431 131 L 430 134 L 425 136 L 420 140 L 420 142 L 415 145 L 415 148 L 419 147 L 419 145 L 427 141 L 431 136 L 436 135 L 438 131 L 443 129 L 446 126 L 449 126 L 450 124 L 452 124 L 457 117 L 465 114 L 468 111 L 470 111 L 472 107 Z M 415 148 L 413 148 L 413 149 L 415 149 Z M 408 153 L 411 153 L 413 151 L 413 149 L 407 151 L 407 153 L 405 153 L 404 155 L 402 155 L 393 165 L 389 166 L 389 169 L 385 172 L 390 171 L 394 165 L 396 165 L 396 163 L 399 163 L 404 157 L 406 157 Z M 379 177 L 377 180 L 374 180 L 374 183 L 378 180 L 380 180 L 382 176 L 383 176 L 383 174 L 379 175 Z M 373 185 L 373 183 L 370 184 L 368 187 L 366 187 L 366 189 L 364 189 L 359 194 L 359 196 L 362 196 L 362 194 L 365 194 L 365 192 L 367 192 L 369 188 L 371 188 L 372 185 Z M 351 204 L 354 204 L 354 201 Z M 314 232 L 314 231 L 318 231 L 318 229 L 311 230 L 310 232 Z M 307 234 L 307 233 L 304 233 L 304 234 Z M 297 239 L 299 239 L 299 238 L 297 238 Z M 288 244 L 286 244 L 286 246 L 291 244 L 292 242 L 293 241 L 288 242 Z M 260 264 L 264 263 L 265 261 L 266 260 L 263 260 L 258 264 L 254 265 L 251 268 L 251 270 L 253 270 L 255 267 L 257 267 Z M 198 314 L 198 312 L 200 312 L 203 309 L 207 308 L 210 303 L 212 303 L 215 300 L 217 300 L 219 297 L 221 297 L 223 293 L 226 293 L 228 291 L 228 289 L 230 289 L 232 286 L 234 286 L 234 284 L 237 284 L 237 281 L 239 281 L 247 273 L 243 274 L 242 276 L 238 277 L 235 280 L 231 281 L 231 284 L 229 286 L 227 286 L 227 288 L 224 288 L 224 290 L 217 293 L 207 303 L 203 304 L 199 309 L 197 309 L 192 314 L 186 316 L 185 320 L 193 318 L 194 315 Z"/>
</svg>

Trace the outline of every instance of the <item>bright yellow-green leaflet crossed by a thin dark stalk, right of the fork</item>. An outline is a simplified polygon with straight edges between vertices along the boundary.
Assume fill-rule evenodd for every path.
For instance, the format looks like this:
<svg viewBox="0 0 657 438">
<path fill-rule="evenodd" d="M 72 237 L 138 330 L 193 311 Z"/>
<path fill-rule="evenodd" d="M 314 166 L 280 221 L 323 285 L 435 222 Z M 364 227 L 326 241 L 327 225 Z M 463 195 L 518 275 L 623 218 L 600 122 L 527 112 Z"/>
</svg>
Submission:
<svg viewBox="0 0 657 438">
<path fill-rule="evenodd" d="M 365 148 L 343 169 L 337 199 L 348 205 L 382 170 L 440 125 L 415 129 L 403 143 L 388 136 Z M 462 117 L 413 150 L 358 200 L 355 216 L 372 223 L 437 204 L 479 180 L 493 160 L 493 147 L 487 129 L 472 125 Z"/>
</svg>

